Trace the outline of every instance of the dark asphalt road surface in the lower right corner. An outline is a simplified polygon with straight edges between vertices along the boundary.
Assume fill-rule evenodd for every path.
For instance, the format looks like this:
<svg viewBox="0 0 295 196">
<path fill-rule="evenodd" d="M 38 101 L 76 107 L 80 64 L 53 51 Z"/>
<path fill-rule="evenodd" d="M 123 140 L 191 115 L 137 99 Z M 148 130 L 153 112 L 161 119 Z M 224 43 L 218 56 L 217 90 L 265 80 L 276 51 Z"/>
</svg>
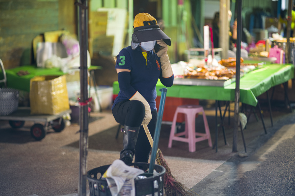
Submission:
<svg viewBox="0 0 295 196">
<path fill-rule="evenodd" d="M 210 173 L 194 189 L 199 195 L 295 195 L 295 115 L 268 129 L 271 138 L 248 145 L 250 156 L 235 155 Z"/>
</svg>

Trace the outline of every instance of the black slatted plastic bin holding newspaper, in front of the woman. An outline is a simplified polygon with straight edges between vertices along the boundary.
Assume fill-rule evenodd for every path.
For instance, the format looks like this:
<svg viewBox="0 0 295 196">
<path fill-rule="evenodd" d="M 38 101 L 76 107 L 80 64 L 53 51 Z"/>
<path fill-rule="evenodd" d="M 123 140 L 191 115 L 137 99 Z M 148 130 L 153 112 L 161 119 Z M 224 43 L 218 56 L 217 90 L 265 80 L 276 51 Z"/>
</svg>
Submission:
<svg viewBox="0 0 295 196">
<path fill-rule="evenodd" d="M 149 163 L 130 163 L 129 166 L 139 166 L 144 170 L 149 168 Z M 109 186 L 105 179 L 101 179 L 101 175 L 106 172 L 110 165 L 104 165 L 96 167 L 87 172 L 87 180 L 89 182 L 90 196 L 112 196 L 109 190 Z M 135 179 L 135 195 L 148 195 L 158 193 L 157 195 L 163 195 L 163 175 L 166 170 L 161 165 L 155 165 L 154 168 L 158 174 L 147 177 L 145 179 Z M 100 175 L 98 175 L 100 173 Z M 158 187 L 154 187 L 154 181 L 158 182 Z"/>
</svg>

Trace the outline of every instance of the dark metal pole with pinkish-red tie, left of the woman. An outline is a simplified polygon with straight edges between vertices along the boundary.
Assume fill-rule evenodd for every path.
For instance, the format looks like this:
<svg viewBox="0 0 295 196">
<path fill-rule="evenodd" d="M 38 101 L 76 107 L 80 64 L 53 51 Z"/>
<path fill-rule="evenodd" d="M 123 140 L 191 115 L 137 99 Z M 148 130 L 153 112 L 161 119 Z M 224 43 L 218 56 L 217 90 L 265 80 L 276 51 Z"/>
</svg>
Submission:
<svg viewBox="0 0 295 196">
<path fill-rule="evenodd" d="M 88 0 L 78 0 L 79 43 L 80 43 L 80 160 L 79 160 L 79 196 L 86 195 L 87 152 L 88 152 L 88 74 L 87 74 L 87 38 L 88 38 Z"/>
</svg>

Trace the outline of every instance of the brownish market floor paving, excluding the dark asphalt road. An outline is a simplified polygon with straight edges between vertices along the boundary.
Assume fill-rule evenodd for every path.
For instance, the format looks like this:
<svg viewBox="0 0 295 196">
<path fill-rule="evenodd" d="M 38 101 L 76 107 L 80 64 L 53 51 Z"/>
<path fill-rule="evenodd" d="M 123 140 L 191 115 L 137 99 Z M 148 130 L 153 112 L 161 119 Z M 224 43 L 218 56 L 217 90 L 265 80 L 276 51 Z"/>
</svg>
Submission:
<svg viewBox="0 0 295 196">
<path fill-rule="evenodd" d="M 214 143 L 215 109 L 212 107 L 212 102 L 211 105 L 208 105 L 208 102 L 201 102 L 200 104 L 204 104 L 212 143 Z M 271 123 L 267 107 L 264 107 L 263 111 L 266 127 L 269 129 Z M 227 118 L 224 124 L 227 145 L 224 145 L 222 132 L 220 132 L 217 153 L 205 141 L 196 144 L 197 150 L 194 153 L 189 153 L 188 145 L 181 142 L 173 142 L 171 149 L 168 149 L 165 144 L 159 144 L 159 148 L 162 150 L 174 177 L 186 187 L 193 188 L 197 192 L 195 185 L 216 171 L 227 160 L 234 156 L 249 155 L 255 152 L 271 137 L 271 134 L 264 133 L 261 120 L 257 121 L 252 115 L 244 131 L 248 153 L 245 154 L 240 131 L 238 132 L 238 152 L 233 153 L 233 112 L 231 114 L 230 124 L 227 123 Z M 293 115 L 293 113 L 289 113 L 286 109 L 281 107 L 273 108 L 274 125 L 280 119 L 290 115 Z M 111 110 L 91 113 L 90 116 L 92 119 L 97 120 L 89 123 L 89 138 L 118 125 L 112 116 Z M 197 118 L 197 121 L 199 119 Z M 35 194 L 38 196 L 53 196 L 77 193 L 80 154 L 79 148 L 72 147 L 71 144 L 79 141 L 80 134 L 77 133 L 80 129 L 79 125 L 71 124 L 60 133 L 49 130 L 43 140 L 36 141 L 31 137 L 29 131 L 32 124 L 32 122 L 26 122 L 23 128 L 12 129 L 8 121 L 0 121 L 0 195 L 28 196 Z M 163 125 L 161 137 L 167 143 L 169 132 L 170 125 Z M 122 144 L 122 140 L 103 139 L 110 142 L 116 141 L 114 145 Z M 175 153 L 175 156 L 173 156 L 173 153 Z M 183 156 L 181 156 L 182 154 Z M 119 159 L 119 150 L 89 148 L 87 171 L 95 167 L 111 164 L 116 159 Z"/>
</svg>

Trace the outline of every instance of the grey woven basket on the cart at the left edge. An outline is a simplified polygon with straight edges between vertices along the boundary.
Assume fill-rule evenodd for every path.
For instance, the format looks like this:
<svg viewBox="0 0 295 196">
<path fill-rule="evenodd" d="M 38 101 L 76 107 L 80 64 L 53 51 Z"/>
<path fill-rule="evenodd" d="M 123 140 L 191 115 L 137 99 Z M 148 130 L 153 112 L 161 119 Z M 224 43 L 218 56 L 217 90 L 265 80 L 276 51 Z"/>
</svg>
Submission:
<svg viewBox="0 0 295 196">
<path fill-rule="evenodd" d="M 0 88 L 0 116 L 6 116 L 17 110 L 19 91 L 13 88 Z"/>
</svg>

